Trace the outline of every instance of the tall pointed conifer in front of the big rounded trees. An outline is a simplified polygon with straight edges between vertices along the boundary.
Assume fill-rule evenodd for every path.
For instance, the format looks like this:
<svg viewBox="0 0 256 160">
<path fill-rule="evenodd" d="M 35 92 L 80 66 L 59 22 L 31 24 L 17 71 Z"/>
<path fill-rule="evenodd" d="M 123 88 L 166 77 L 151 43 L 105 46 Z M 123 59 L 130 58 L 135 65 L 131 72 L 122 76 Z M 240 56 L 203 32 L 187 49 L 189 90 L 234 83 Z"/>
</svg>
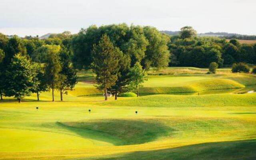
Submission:
<svg viewBox="0 0 256 160">
<path fill-rule="evenodd" d="M 122 52 L 119 48 L 114 47 L 110 42 L 109 37 L 103 34 L 98 45 L 94 45 L 92 58 L 92 69 L 96 74 L 96 82 L 99 89 L 104 89 L 105 100 L 108 100 L 108 92 L 111 86 L 113 86 L 118 78 L 118 70 L 120 66 L 118 55 Z"/>
</svg>

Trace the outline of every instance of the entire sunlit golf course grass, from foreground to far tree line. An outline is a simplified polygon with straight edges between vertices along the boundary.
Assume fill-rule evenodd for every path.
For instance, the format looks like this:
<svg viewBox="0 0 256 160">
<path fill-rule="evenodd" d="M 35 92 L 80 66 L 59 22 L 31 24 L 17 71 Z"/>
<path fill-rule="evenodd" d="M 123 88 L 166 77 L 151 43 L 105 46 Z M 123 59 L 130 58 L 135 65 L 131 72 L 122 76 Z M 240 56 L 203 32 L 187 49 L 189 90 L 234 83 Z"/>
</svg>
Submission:
<svg viewBox="0 0 256 160">
<path fill-rule="evenodd" d="M 256 76 L 207 70 L 149 70 L 139 97 L 117 100 L 91 71 L 63 101 L 3 97 L 0 160 L 255 160 Z"/>
</svg>

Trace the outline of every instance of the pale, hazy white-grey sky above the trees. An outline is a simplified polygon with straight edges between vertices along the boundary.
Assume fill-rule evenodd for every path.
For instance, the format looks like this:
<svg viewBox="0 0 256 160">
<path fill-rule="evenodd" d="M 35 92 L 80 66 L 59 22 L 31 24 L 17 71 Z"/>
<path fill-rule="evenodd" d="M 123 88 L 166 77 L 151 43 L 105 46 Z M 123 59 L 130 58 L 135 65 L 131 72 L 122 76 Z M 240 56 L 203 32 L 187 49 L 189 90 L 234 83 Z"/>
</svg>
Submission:
<svg viewBox="0 0 256 160">
<path fill-rule="evenodd" d="M 255 6 L 256 0 L 0 0 L 0 32 L 74 34 L 93 24 L 126 23 L 256 35 Z"/>
</svg>

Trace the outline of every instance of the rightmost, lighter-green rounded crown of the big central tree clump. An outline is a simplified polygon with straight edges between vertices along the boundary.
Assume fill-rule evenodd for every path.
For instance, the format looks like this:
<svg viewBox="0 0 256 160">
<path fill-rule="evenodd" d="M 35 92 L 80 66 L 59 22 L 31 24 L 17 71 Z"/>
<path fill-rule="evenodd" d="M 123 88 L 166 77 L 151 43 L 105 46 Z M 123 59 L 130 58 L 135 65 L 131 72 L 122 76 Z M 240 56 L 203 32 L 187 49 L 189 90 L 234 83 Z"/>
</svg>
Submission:
<svg viewBox="0 0 256 160">
<path fill-rule="evenodd" d="M 146 36 L 149 45 L 146 48 L 146 56 L 144 58 L 143 66 L 146 70 L 149 67 L 164 68 L 168 66 L 170 51 L 167 43 L 170 38 L 160 33 L 156 28 L 144 27 L 144 35 Z"/>
</svg>

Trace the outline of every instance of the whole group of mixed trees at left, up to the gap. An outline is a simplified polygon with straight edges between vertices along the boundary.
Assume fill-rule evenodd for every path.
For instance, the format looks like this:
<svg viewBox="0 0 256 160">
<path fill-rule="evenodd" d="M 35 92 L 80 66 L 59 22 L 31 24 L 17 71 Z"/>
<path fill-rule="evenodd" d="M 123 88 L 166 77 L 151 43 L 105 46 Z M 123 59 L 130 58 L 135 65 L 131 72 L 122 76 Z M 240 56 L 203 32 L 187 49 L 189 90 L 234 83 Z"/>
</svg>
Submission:
<svg viewBox="0 0 256 160">
<path fill-rule="evenodd" d="M 17 36 L 8 39 L 0 34 L 0 95 L 14 96 L 20 102 L 24 96 L 36 93 L 39 100 L 41 92 L 52 89 L 67 94 L 77 81 L 76 70 L 72 66 L 72 53 L 67 40 L 70 32 L 63 33 L 66 38 L 39 40 L 21 39 Z M 56 44 L 56 40 L 58 44 Z"/>
</svg>

